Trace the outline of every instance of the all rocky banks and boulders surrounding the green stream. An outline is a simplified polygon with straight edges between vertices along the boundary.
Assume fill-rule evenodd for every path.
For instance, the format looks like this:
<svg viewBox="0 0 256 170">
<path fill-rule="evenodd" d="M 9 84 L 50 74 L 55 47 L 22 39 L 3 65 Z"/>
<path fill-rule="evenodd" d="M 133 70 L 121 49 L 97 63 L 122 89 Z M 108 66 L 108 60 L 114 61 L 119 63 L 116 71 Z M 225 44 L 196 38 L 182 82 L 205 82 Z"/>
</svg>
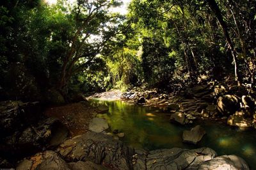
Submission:
<svg viewBox="0 0 256 170">
<path fill-rule="evenodd" d="M 221 86 L 212 88 L 209 85 L 198 85 L 181 91 L 176 97 L 159 95 L 154 91 L 130 91 L 122 96 L 120 92 L 115 93 L 115 98 L 120 97 L 130 103 L 162 107 L 170 112 L 170 120 L 182 125 L 195 119 L 227 121 L 230 125 L 243 128 L 254 125 L 254 99 L 248 95 L 230 95 Z M 50 107 L 43 114 L 38 102 L 1 102 L 0 167 L 249 169 L 242 158 L 235 155 L 217 156 L 210 148 L 145 151 L 143 148 L 138 150 L 125 146 L 118 140 L 118 137 L 124 137 L 124 133 L 107 134 L 108 122 L 95 118 L 98 113 L 106 112 L 107 109 L 79 102 Z M 193 133 L 195 135 L 191 135 Z M 194 127 L 190 132 L 184 132 L 183 138 L 184 141 L 197 143 L 204 134 L 204 129 Z"/>
</svg>

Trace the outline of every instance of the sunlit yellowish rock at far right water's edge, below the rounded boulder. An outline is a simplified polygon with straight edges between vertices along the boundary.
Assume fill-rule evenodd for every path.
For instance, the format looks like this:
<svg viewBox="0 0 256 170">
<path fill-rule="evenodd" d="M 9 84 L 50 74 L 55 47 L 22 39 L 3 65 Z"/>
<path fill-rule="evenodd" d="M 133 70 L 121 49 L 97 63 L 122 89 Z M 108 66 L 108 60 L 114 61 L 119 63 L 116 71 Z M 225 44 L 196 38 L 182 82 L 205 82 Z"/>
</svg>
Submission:
<svg viewBox="0 0 256 170">
<path fill-rule="evenodd" d="M 243 115 L 232 115 L 228 118 L 228 125 L 241 128 L 252 127 L 252 120 L 245 119 Z"/>
</svg>

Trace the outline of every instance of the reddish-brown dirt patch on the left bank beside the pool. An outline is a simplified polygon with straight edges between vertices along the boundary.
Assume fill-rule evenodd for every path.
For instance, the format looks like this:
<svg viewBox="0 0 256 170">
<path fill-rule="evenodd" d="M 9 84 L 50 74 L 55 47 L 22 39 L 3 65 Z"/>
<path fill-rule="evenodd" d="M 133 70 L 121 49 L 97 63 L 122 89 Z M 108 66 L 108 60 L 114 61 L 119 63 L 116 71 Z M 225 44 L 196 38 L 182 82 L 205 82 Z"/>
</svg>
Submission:
<svg viewBox="0 0 256 170">
<path fill-rule="evenodd" d="M 87 102 L 79 102 L 59 107 L 49 107 L 44 114 L 58 118 L 70 130 L 70 135 L 74 137 L 88 131 L 88 125 L 97 114 L 97 109 Z"/>
</svg>

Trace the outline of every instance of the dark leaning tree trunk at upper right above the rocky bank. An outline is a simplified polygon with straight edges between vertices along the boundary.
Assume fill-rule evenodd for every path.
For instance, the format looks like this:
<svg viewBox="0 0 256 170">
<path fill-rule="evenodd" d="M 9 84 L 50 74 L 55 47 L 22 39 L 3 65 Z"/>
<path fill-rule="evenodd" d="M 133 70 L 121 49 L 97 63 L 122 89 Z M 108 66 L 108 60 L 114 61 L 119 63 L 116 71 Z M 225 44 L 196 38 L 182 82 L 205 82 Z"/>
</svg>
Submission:
<svg viewBox="0 0 256 170">
<path fill-rule="evenodd" d="M 216 1 L 215 0 L 207 0 L 207 1 L 208 1 L 208 4 L 209 4 L 212 12 L 214 13 L 216 18 L 220 22 L 220 25 L 221 25 L 221 27 L 223 29 L 223 33 L 224 33 L 226 41 L 228 43 L 228 49 L 230 49 L 232 57 L 233 57 L 233 60 L 234 60 L 235 80 L 237 81 L 237 86 L 240 86 L 241 85 L 241 77 L 240 77 L 239 72 L 238 72 L 239 69 L 238 69 L 237 54 L 236 54 L 236 50 L 234 49 L 234 45 L 233 45 L 233 43 L 231 41 L 231 38 L 229 36 L 227 24 L 223 20 L 220 8 L 219 8 L 218 4 L 216 3 Z"/>
</svg>

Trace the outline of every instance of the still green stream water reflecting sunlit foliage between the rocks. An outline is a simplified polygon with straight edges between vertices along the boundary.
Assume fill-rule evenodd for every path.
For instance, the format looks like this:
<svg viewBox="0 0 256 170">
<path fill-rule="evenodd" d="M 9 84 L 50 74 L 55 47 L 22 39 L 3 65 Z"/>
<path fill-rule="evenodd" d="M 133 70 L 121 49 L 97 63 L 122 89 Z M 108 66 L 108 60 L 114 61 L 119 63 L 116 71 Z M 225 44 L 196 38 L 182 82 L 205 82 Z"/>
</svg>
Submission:
<svg viewBox="0 0 256 170">
<path fill-rule="evenodd" d="M 244 158 L 251 169 L 256 169 L 256 131 L 239 130 L 227 125 L 198 121 L 192 125 L 178 125 L 168 121 L 169 114 L 161 109 L 131 105 L 122 101 L 92 100 L 92 105 L 108 105 L 107 114 L 99 117 L 108 120 L 109 126 L 125 133 L 121 139 L 128 146 L 156 150 L 162 148 L 209 147 L 218 155 L 237 155 Z M 207 135 L 197 145 L 182 143 L 183 130 L 195 125 L 204 127 Z"/>
</svg>

